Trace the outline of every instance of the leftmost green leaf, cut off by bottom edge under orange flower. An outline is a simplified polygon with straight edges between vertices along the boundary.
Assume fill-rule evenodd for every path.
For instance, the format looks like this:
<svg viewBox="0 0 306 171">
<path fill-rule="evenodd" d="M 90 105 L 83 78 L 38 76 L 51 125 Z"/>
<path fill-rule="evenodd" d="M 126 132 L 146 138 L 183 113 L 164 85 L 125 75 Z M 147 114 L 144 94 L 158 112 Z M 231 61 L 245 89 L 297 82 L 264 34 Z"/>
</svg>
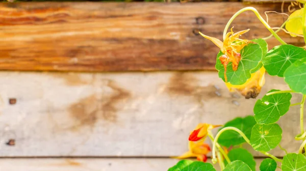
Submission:
<svg viewBox="0 0 306 171">
<path fill-rule="evenodd" d="M 177 162 L 173 167 L 169 168 L 168 171 L 216 171 L 211 163 L 205 163 L 202 161 L 192 160 L 181 160 Z"/>
</svg>

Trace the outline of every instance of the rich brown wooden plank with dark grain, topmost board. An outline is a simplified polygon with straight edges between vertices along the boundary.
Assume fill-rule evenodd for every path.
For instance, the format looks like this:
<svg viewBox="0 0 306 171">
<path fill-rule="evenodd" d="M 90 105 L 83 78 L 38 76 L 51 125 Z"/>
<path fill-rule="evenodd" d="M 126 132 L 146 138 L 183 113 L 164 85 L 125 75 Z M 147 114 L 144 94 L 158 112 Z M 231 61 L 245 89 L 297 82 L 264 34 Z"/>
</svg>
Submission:
<svg viewBox="0 0 306 171">
<path fill-rule="evenodd" d="M 158 71 L 215 70 L 219 51 L 198 31 L 221 39 L 242 3 L 14 3 L 0 4 L 0 70 Z M 281 4 L 253 5 L 281 11 Z M 212 11 L 212 9 L 215 9 Z M 286 9 L 286 8 L 285 8 Z M 269 20 L 280 26 L 279 14 Z M 252 12 L 234 31 L 248 39 L 270 33 Z M 289 44 L 303 39 L 279 33 Z M 268 41 L 272 48 L 279 43 Z"/>
</svg>

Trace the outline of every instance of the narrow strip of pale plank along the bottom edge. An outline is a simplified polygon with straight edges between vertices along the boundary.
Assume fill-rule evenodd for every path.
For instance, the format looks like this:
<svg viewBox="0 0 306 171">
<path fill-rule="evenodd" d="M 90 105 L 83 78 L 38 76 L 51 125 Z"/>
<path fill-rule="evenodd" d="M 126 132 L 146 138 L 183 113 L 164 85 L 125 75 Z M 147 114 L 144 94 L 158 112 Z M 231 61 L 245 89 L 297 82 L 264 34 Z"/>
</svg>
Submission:
<svg viewBox="0 0 306 171">
<path fill-rule="evenodd" d="M 256 159 L 257 170 L 263 159 Z M 173 166 L 176 159 L 154 159 L 154 158 L 112 158 L 112 159 L 0 159 L 1 168 L 10 171 L 156 171 L 167 170 Z M 208 161 L 210 162 L 210 161 Z M 279 164 L 279 163 L 278 163 Z M 281 164 L 279 164 L 281 165 Z M 218 164 L 214 165 L 220 170 Z M 277 168 L 277 171 L 281 169 Z"/>
</svg>

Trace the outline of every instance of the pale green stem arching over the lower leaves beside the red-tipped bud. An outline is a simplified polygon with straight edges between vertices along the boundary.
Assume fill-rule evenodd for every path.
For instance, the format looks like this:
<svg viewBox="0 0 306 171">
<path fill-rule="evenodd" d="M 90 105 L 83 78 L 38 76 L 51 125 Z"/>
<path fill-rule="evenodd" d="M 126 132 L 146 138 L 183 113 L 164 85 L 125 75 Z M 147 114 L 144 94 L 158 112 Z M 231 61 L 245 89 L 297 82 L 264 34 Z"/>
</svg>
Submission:
<svg viewBox="0 0 306 171">
<path fill-rule="evenodd" d="M 212 162 L 213 164 L 216 164 L 217 163 L 217 158 L 216 158 L 216 144 L 217 144 L 217 141 L 218 141 L 218 138 L 219 136 L 224 132 L 224 131 L 227 131 L 227 130 L 233 130 L 233 131 L 236 131 L 238 132 L 242 137 L 243 139 L 246 141 L 247 144 L 250 145 L 250 140 L 245 136 L 245 134 L 238 128 L 235 128 L 235 127 L 225 127 L 225 128 L 222 128 L 216 135 L 216 138 L 214 140 L 214 144 L 213 144 L 213 158 L 212 158 Z M 269 154 L 267 152 L 264 152 L 264 151 L 260 151 L 261 153 L 263 153 L 264 155 L 266 156 L 269 156 L 271 157 L 272 159 L 274 159 L 275 161 L 279 161 L 279 162 L 282 162 L 281 159 L 278 159 L 277 157 L 273 156 L 272 154 Z"/>
</svg>

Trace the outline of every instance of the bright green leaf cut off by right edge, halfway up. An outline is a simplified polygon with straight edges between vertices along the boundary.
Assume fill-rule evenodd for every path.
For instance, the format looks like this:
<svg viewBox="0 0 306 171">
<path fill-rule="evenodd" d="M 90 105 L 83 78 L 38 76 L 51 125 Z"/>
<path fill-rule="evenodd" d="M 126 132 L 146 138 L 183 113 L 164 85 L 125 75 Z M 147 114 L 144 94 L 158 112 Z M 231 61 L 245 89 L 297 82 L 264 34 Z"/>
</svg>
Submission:
<svg viewBox="0 0 306 171">
<path fill-rule="evenodd" d="M 306 58 L 298 60 L 288 67 L 284 77 L 291 90 L 306 94 Z"/>
</svg>

